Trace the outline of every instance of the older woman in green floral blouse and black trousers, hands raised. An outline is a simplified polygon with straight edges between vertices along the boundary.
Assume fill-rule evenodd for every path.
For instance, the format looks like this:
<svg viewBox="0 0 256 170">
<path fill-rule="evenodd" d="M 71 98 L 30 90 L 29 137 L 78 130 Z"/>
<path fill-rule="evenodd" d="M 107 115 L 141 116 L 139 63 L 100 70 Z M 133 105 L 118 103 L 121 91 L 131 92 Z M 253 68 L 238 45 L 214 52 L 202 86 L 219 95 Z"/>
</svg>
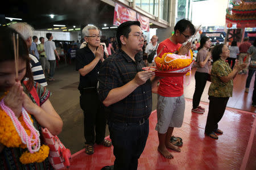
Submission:
<svg viewBox="0 0 256 170">
<path fill-rule="evenodd" d="M 232 97 L 233 79 L 237 73 L 246 67 L 246 64 L 236 64 L 234 69 L 230 68 L 226 62 L 226 58 L 230 55 L 228 46 L 224 44 L 216 45 L 212 51 L 213 66 L 211 72 L 211 80 L 209 95 L 209 112 L 207 124 L 205 126 L 205 134 L 213 139 L 218 139 L 216 134 L 223 132 L 218 129 L 218 122 L 221 120 L 229 97 Z"/>
</svg>

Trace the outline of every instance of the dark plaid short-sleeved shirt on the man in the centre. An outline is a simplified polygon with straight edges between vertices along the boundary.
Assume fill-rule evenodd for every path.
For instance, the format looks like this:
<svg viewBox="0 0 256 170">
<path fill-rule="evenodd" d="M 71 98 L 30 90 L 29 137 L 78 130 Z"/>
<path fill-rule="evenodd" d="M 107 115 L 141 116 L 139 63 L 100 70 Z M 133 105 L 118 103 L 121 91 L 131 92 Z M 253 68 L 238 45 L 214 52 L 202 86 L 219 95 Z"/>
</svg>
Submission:
<svg viewBox="0 0 256 170">
<path fill-rule="evenodd" d="M 113 88 L 122 87 L 130 82 L 145 64 L 141 57 L 135 56 L 135 61 L 125 52 L 119 50 L 109 56 L 101 65 L 99 74 L 99 96 L 104 101 Z M 151 81 L 136 88 L 125 99 L 108 107 L 110 122 L 139 122 L 148 118 L 152 109 Z"/>
</svg>

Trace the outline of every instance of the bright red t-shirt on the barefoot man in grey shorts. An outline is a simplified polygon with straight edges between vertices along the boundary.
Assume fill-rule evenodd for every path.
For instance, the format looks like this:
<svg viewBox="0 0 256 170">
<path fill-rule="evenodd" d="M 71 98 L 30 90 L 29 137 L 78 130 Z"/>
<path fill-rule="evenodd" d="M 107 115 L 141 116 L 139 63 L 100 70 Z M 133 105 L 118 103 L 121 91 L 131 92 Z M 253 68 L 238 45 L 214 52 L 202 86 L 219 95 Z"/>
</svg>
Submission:
<svg viewBox="0 0 256 170">
<path fill-rule="evenodd" d="M 159 56 L 164 53 L 175 53 L 180 48 L 181 44 L 174 44 L 170 39 L 166 39 L 158 45 L 157 53 L 166 46 Z M 167 76 L 160 79 L 160 85 L 158 88 L 158 94 L 164 97 L 179 97 L 183 95 L 183 76 Z"/>
</svg>

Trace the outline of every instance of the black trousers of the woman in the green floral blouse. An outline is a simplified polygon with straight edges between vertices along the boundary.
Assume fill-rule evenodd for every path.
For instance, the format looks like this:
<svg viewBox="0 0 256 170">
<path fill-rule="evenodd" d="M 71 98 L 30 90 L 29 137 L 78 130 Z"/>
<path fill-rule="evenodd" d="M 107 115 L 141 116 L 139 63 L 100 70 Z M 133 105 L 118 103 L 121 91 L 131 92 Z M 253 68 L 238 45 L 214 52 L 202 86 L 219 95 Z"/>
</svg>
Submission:
<svg viewBox="0 0 256 170">
<path fill-rule="evenodd" d="M 209 100 L 209 112 L 207 116 L 207 124 L 205 125 L 205 134 L 210 134 L 218 129 L 218 122 L 225 112 L 229 97 L 209 96 Z"/>
</svg>

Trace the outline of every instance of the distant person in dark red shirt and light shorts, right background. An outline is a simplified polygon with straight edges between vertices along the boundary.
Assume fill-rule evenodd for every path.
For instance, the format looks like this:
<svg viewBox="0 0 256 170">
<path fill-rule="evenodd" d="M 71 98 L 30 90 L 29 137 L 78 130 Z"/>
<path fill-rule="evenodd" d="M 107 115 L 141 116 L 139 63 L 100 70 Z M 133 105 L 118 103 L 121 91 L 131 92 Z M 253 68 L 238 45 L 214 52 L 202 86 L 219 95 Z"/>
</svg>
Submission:
<svg viewBox="0 0 256 170">
<path fill-rule="evenodd" d="M 243 39 L 243 43 L 240 44 L 239 46 L 239 63 L 249 63 L 249 59 L 250 57 L 247 56 L 247 50 L 250 48 L 251 46 L 251 43 L 249 42 L 249 38 L 248 37 L 245 37 L 245 39 Z M 243 69 L 239 72 L 239 74 L 246 74 L 248 72 L 248 66 L 246 67 L 246 69 Z"/>
</svg>

